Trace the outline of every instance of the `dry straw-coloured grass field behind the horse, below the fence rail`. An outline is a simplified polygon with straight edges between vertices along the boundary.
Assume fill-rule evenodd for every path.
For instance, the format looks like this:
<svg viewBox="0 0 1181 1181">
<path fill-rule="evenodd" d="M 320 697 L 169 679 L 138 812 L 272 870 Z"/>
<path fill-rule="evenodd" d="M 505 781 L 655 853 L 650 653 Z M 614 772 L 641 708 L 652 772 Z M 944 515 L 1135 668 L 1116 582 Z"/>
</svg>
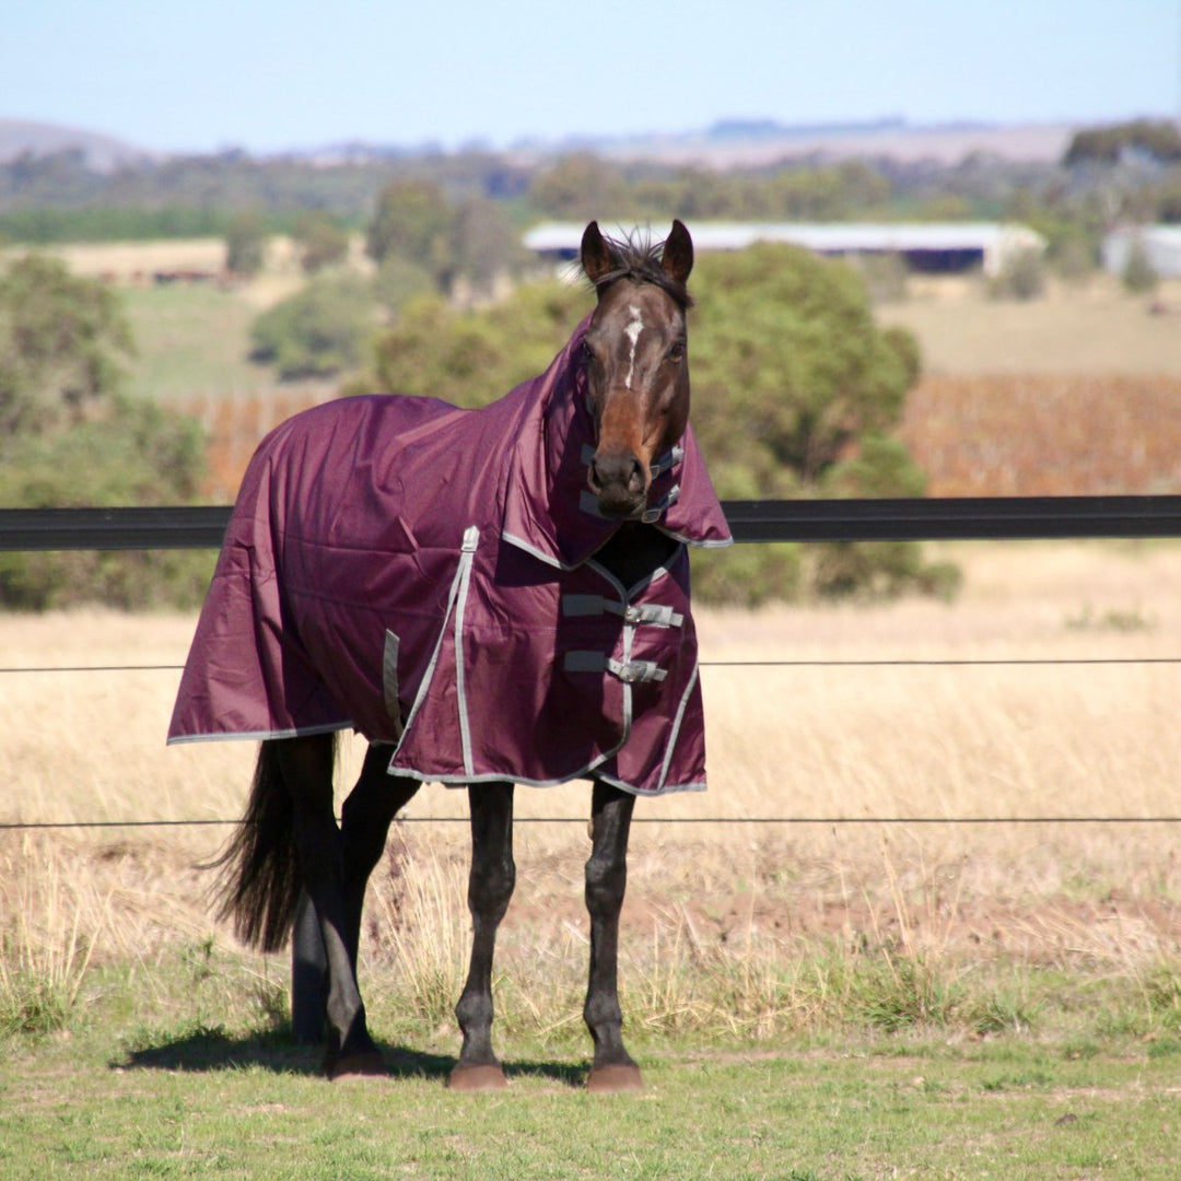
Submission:
<svg viewBox="0 0 1181 1181">
<path fill-rule="evenodd" d="M 745 1037 L 840 1024 L 879 1005 L 854 970 L 905 993 L 888 1010 L 903 1025 L 1085 1024 L 1114 990 L 1121 1022 L 1150 1026 L 1163 1004 L 1181 1027 L 1181 824 L 1149 820 L 1181 816 L 1181 665 L 1004 663 L 1181 657 L 1181 547 L 965 544 L 952 556 L 967 574 L 954 606 L 702 613 L 711 790 L 641 802 L 633 837 L 625 980 L 641 1027 Z M 171 666 L 191 626 L 9 615 L 0 651 L 6 668 Z M 771 660 L 788 664 L 732 664 Z M 0 673 L 0 821 L 236 817 L 253 745 L 167 750 L 176 679 Z M 344 751 L 344 778 L 358 756 Z M 581 820 L 587 802 L 578 785 L 520 792 L 518 815 L 547 820 L 518 841 L 501 959 L 510 1027 L 578 1025 L 585 826 L 549 818 Z M 466 954 L 465 829 L 446 822 L 463 813 L 462 794 L 420 794 L 370 908 L 368 978 L 431 1027 L 450 1027 Z M 800 822 L 763 822 L 785 817 Z M 0 996 L 40 976 L 84 998 L 103 965 L 230 948 L 193 868 L 226 831 L 0 831 Z M 1052 1003 L 1029 973 L 1051 974 Z M 177 1018 L 189 1004 L 167 1001 Z"/>
</svg>

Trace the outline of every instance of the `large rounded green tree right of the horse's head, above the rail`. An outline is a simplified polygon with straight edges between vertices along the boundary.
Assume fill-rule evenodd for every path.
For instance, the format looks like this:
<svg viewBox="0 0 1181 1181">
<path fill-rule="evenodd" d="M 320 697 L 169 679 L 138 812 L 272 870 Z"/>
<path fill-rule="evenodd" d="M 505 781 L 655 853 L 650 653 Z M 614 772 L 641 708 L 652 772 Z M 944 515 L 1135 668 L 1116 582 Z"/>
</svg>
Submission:
<svg viewBox="0 0 1181 1181">
<path fill-rule="evenodd" d="M 723 482 L 732 469 L 755 495 L 815 495 L 859 441 L 896 425 L 918 347 L 874 325 L 849 266 L 762 244 L 706 255 L 693 278 L 694 422 Z"/>
</svg>

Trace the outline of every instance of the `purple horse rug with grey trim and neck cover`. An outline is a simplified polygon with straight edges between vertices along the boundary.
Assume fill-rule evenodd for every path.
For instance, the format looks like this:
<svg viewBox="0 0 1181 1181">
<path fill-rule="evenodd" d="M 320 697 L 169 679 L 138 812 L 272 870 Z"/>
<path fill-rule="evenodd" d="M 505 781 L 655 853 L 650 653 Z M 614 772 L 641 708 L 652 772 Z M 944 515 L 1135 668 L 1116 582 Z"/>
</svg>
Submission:
<svg viewBox="0 0 1181 1181">
<path fill-rule="evenodd" d="M 169 742 L 352 727 L 391 775 L 702 790 L 686 546 L 730 531 L 691 433 L 645 520 L 678 544 L 625 587 L 587 490 L 579 344 L 482 410 L 344 398 L 263 439 L 230 518 Z"/>
</svg>

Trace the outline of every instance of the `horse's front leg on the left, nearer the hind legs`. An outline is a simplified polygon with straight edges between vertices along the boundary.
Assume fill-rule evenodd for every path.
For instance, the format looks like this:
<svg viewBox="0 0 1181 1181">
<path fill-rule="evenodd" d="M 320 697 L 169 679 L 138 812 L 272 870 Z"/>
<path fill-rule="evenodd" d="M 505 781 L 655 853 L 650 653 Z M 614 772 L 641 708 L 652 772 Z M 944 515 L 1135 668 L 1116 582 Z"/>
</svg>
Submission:
<svg viewBox="0 0 1181 1181">
<path fill-rule="evenodd" d="M 456 1090 L 496 1090 L 505 1087 L 504 1071 L 492 1053 L 492 952 L 496 929 L 516 885 L 513 861 L 513 784 L 482 783 L 468 789 L 471 804 L 471 966 L 455 1014 L 463 1031 L 463 1049 L 451 1071 Z"/>
</svg>

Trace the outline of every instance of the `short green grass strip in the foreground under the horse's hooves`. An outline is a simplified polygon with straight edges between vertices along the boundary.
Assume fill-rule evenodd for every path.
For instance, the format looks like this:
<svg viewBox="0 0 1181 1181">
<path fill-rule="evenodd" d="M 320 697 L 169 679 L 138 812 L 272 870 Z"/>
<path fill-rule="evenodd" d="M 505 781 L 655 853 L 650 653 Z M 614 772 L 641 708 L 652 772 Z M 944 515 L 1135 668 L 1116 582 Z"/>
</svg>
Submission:
<svg viewBox="0 0 1181 1181">
<path fill-rule="evenodd" d="M 496 1096 L 445 1055 L 332 1085 L 281 1036 L 193 1029 L 104 1058 L 50 1043 L 0 1072 L 0 1176 L 1176 1177 L 1177 1059 L 1025 1043 L 783 1043 L 641 1057 L 594 1098 L 580 1063 L 510 1058 Z"/>
</svg>

